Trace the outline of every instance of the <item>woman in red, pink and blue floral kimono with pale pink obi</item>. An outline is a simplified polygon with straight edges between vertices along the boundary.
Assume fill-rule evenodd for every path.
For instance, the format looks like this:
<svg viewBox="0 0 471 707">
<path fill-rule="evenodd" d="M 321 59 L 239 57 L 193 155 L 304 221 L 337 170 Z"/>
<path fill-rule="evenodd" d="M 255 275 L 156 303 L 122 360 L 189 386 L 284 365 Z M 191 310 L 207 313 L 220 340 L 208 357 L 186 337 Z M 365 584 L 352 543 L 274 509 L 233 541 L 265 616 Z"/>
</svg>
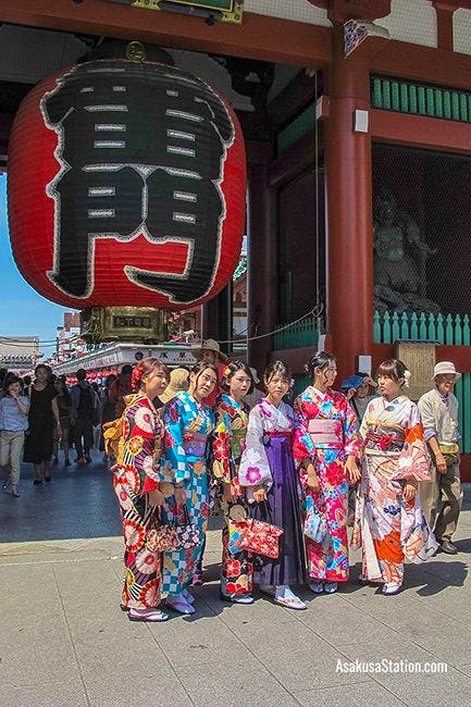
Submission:
<svg viewBox="0 0 471 707">
<path fill-rule="evenodd" d="M 346 397 L 331 387 L 337 375 L 335 357 L 319 351 L 306 370 L 312 385 L 295 400 L 294 456 L 307 501 L 311 499 L 326 523 L 320 542 L 306 537 L 309 587 L 331 594 L 337 582 L 348 580 L 348 482 L 360 479 L 360 443 L 355 412 Z"/>
</svg>

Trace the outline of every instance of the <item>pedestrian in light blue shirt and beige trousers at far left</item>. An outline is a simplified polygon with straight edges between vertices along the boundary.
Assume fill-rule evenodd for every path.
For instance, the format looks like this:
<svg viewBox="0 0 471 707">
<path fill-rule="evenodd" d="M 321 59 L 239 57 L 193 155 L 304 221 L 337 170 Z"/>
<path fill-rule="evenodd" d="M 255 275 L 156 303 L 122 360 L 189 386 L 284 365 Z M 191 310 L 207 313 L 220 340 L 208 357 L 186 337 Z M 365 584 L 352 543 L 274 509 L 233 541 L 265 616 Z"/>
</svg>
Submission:
<svg viewBox="0 0 471 707">
<path fill-rule="evenodd" d="M 22 395 L 21 388 L 21 379 L 11 376 L 0 398 L 0 467 L 5 474 L 3 489 L 11 485 L 15 498 L 20 497 L 21 460 L 29 412 L 29 400 Z"/>
</svg>

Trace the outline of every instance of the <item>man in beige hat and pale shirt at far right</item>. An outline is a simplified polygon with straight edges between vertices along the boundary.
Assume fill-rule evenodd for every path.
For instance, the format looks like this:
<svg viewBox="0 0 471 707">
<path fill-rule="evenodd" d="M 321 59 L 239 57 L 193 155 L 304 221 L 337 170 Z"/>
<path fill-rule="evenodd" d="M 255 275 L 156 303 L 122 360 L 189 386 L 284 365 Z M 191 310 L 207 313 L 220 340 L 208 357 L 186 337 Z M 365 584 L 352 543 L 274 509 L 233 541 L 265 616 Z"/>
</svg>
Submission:
<svg viewBox="0 0 471 707">
<path fill-rule="evenodd" d="M 462 492 L 459 479 L 458 400 L 453 393 L 461 376 L 450 361 L 441 361 L 434 368 L 435 387 L 422 395 L 419 409 L 424 437 L 431 458 L 431 481 L 420 483 L 420 499 L 425 518 L 442 550 L 456 555 L 451 536 L 458 524 Z M 437 513 L 438 498 L 442 508 Z"/>
</svg>

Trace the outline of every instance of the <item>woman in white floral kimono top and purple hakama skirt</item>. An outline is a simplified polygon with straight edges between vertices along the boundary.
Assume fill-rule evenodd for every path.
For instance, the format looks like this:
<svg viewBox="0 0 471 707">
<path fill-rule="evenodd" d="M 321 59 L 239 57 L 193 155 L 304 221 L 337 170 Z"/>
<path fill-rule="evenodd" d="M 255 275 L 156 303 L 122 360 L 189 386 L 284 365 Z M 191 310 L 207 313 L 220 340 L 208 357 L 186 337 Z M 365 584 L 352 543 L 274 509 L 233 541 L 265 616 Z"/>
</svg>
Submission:
<svg viewBox="0 0 471 707">
<path fill-rule="evenodd" d="M 246 489 L 249 516 L 283 530 L 277 559 L 258 556 L 253 579 L 260 591 L 274 596 L 276 604 L 306 609 L 290 584 L 303 576 L 302 534 L 299 489 L 293 460 L 293 409 L 283 401 L 292 374 L 283 361 L 274 361 L 265 371 L 267 396 L 249 414 L 246 446 L 239 466 L 239 484 Z"/>
</svg>

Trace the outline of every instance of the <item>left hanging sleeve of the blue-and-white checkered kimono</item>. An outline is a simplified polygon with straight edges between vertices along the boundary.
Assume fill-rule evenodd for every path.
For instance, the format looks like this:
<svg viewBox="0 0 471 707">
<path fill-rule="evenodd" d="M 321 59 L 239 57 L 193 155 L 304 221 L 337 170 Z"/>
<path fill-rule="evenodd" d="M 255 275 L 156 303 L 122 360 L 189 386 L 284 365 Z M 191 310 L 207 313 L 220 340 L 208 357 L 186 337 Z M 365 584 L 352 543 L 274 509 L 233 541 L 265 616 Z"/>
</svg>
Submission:
<svg viewBox="0 0 471 707">
<path fill-rule="evenodd" d="M 184 409 L 177 398 L 163 408 L 165 427 L 160 480 L 171 484 L 190 479 L 189 466 L 183 446 Z"/>
</svg>

